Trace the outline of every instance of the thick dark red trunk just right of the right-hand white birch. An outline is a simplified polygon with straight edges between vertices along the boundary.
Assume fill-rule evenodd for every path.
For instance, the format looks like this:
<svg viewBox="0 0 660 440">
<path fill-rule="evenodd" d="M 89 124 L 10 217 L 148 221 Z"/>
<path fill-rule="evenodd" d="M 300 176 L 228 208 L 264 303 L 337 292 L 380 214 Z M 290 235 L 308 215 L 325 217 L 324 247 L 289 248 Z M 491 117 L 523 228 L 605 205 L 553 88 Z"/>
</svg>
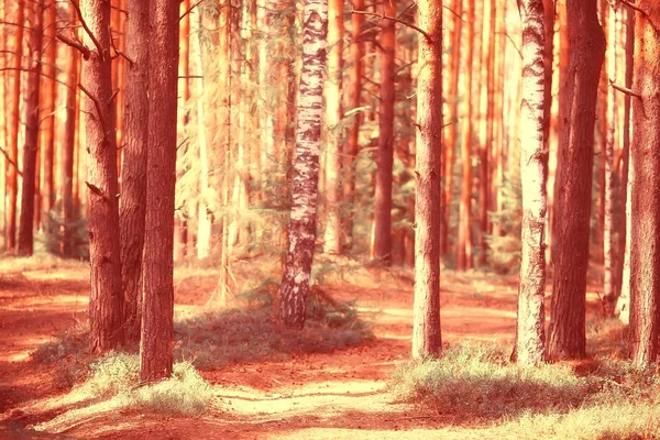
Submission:
<svg viewBox="0 0 660 440">
<path fill-rule="evenodd" d="M 556 193 L 556 254 L 548 354 L 551 359 L 585 355 L 585 294 L 588 266 L 591 183 L 598 77 L 605 37 L 596 0 L 568 0 L 568 121 L 562 138 Z"/>
</svg>

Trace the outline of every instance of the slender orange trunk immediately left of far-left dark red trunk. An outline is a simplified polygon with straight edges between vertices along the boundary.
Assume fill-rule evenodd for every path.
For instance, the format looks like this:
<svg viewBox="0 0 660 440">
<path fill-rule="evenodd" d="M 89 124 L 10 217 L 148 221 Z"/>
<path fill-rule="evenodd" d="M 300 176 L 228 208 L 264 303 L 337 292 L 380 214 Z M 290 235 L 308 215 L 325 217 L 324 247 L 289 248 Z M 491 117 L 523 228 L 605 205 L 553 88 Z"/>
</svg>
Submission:
<svg viewBox="0 0 660 440">
<path fill-rule="evenodd" d="M 19 129 L 21 107 L 21 67 L 23 61 L 23 30 L 25 22 L 25 0 L 18 0 L 16 32 L 14 34 L 14 77 L 12 89 L 11 120 L 9 128 L 9 175 L 7 186 L 9 189 L 7 250 L 15 251 L 16 246 L 16 204 L 19 199 Z"/>
</svg>

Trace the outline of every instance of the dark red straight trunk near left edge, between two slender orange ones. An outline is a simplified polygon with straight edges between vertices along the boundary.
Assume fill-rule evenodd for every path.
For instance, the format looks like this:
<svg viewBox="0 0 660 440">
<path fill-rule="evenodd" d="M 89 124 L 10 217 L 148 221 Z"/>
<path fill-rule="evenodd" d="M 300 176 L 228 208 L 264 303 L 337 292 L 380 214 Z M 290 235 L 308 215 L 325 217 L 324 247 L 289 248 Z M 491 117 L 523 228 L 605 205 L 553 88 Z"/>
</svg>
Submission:
<svg viewBox="0 0 660 440">
<path fill-rule="evenodd" d="M 30 256 L 34 250 L 34 194 L 36 156 L 38 154 L 38 103 L 41 84 L 41 52 L 44 35 L 43 1 L 32 3 L 30 33 L 31 66 L 28 75 L 25 102 L 25 146 L 23 147 L 23 187 L 21 191 L 21 219 L 19 223 L 19 255 Z"/>
</svg>

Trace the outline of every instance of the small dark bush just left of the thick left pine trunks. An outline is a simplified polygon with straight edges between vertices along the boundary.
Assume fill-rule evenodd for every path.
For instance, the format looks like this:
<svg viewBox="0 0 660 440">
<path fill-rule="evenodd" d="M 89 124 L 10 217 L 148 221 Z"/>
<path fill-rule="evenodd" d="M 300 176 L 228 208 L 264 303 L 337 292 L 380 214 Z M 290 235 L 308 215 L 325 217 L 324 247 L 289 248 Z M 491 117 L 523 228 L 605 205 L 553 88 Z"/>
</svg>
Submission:
<svg viewBox="0 0 660 440">
<path fill-rule="evenodd" d="M 37 246 L 43 245 L 50 254 L 66 258 L 88 260 L 89 235 L 82 207 L 75 207 L 73 219 L 67 222 L 64 219 L 62 201 L 57 201 L 53 210 L 47 213 L 43 232 L 37 235 L 36 241 Z"/>
</svg>

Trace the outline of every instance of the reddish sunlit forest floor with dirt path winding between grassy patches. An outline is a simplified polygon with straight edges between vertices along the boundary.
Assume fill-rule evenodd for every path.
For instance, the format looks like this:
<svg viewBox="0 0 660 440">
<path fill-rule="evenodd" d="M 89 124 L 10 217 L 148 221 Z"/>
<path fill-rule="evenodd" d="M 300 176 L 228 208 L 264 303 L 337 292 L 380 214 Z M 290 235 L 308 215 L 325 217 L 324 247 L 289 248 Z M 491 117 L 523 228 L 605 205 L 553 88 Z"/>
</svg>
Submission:
<svg viewBox="0 0 660 440">
<path fill-rule="evenodd" d="M 329 276 L 323 288 L 336 299 L 356 300 L 376 338 L 332 353 L 201 370 L 212 384 L 213 403 L 197 417 L 72 400 L 58 386 L 57 365 L 35 361 L 31 352 L 87 319 L 88 265 L 4 260 L 0 274 L 1 439 L 502 438 L 502 431 L 490 431 L 488 420 L 397 403 L 388 391 L 391 373 L 410 353 L 410 272 L 361 268 Z M 175 314 L 204 307 L 217 283 L 216 271 L 208 268 L 177 270 L 175 277 Z M 443 274 L 441 295 L 446 344 L 470 339 L 508 350 L 517 277 Z M 595 310 L 597 297 L 590 295 L 590 302 Z M 86 406 L 92 409 L 81 411 Z"/>
</svg>

